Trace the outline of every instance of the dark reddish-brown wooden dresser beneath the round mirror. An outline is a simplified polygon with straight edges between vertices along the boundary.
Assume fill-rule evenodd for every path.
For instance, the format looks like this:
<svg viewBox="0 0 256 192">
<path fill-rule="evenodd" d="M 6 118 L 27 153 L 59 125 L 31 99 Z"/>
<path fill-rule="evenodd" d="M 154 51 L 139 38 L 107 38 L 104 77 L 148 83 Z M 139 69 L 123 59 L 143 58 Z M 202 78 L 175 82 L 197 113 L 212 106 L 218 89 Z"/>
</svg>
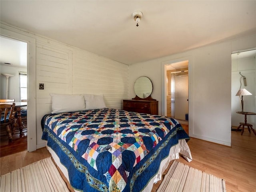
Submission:
<svg viewBox="0 0 256 192">
<path fill-rule="evenodd" d="M 123 109 L 126 111 L 158 115 L 158 101 L 152 100 L 123 100 Z"/>
</svg>

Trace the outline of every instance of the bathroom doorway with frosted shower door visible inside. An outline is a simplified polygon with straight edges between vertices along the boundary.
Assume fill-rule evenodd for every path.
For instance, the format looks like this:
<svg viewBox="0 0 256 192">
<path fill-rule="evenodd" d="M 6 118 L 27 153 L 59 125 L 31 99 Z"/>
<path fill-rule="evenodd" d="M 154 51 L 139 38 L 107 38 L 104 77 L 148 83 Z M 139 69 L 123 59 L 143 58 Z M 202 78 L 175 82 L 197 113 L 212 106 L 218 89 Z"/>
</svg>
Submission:
<svg viewBox="0 0 256 192">
<path fill-rule="evenodd" d="M 189 59 L 189 58 L 188 58 Z M 162 114 L 175 118 L 189 135 L 192 132 L 193 124 L 188 126 L 189 122 L 189 103 L 188 103 L 188 62 L 189 60 L 173 60 L 162 63 Z M 192 88 L 190 89 L 190 91 Z M 192 110 L 192 108 L 190 108 Z M 191 121 L 192 122 L 192 121 Z"/>
</svg>

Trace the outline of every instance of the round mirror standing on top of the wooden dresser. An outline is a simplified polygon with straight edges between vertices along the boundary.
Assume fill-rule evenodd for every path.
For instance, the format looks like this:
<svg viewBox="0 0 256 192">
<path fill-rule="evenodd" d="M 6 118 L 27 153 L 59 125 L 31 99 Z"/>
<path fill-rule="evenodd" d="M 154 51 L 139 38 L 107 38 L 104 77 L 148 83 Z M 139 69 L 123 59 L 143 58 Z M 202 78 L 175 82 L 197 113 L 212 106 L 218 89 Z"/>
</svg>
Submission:
<svg viewBox="0 0 256 192">
<path fill-rule="evenodd" d="M 134 83 L 134 92 L 139 98 L 147 98 L 151 95 L 153 85 L 148 77 L 141 76 Z"/>
</svg>

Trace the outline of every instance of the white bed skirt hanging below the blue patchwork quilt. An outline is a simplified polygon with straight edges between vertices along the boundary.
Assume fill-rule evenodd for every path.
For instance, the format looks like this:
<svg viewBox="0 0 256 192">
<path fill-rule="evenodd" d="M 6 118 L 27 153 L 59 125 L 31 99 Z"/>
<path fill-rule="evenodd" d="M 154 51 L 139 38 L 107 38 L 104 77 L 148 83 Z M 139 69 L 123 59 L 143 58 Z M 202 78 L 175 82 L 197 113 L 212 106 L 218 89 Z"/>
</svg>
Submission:
<svg viewBox="0 0 256 192">
<path fill-rule="evenodd" d="M 60 168 L 60 170 L 63 172 L 64 176 L 68 179 L 68 182 L 69 182 L 68 170 L 60 162 L 60 158 L 56 155 L 54 150 L 52 150 L 52 148 L 50 148 L 48 145 L 46 145 L 46 147 L 47 147 L 48 151 L 50 152 L 50 154 L 52 154 L 52 158 L 56 162 L 57 166 Z M 164 160 L 162 160 L 162 162 L 160 164 L 160 168 L 158 170 L 158 173 L 154 177 L 152 177 L 151 180 L 149 180 L 147 186 L 142 190 L 142 192 L 151 192 L 154 183 L 158 182 L 159 180 L 162 180 L 162 174 L 168 167 L 170 161 L 180 158 L 180 154 L 188 162 L 192 161 L 190 149 L 188 147 L 188 144 L 186 143 L 186 140 L 184 140 L 184 139 L 179 140 L 179 143 L 177 145 L 174 145 L 170 148 L 169 156 L 167 158 L 165 158 Z M 75 191 L 79 192 L 78 190 L 75 190 Z"/>
</svg>

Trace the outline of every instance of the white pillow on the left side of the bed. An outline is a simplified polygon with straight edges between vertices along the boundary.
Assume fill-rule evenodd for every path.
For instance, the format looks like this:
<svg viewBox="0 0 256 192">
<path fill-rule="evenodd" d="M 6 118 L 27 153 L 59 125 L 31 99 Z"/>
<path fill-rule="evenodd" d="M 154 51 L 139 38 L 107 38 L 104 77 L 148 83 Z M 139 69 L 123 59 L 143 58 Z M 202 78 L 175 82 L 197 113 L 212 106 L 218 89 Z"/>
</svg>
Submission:
<svg viewBox="0 0 256 192">
<path fill-rule="evenodd" d="M 50 96 L 52 96 L 52 113 L 85 110 L 84 97 L 82 95 L 50 93 Z"/>
</svg>

